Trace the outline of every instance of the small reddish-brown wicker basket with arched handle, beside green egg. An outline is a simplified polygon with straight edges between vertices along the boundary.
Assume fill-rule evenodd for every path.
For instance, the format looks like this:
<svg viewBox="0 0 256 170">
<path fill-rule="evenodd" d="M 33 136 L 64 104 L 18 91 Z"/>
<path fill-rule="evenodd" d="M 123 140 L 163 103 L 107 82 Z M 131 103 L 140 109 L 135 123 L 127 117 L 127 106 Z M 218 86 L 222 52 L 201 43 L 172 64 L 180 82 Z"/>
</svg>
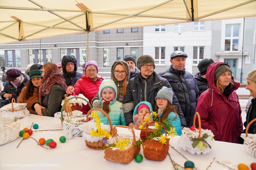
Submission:
<svg viewBox="0 0 256 170">
<path fill-rule="evenodd" d="M 165 135 L 166 134 L 166 128 L 161 122 L 158 121 L 153 121 L 161 124 L 163 126 Z M 152 122 L 152 123 L 153 123 Z M 147 129 L 148 125 L 146 127 L 146 137 L 147 137 Z M 166 139 L 166 144 L 160 143 L 159 140 L 146 140 L 143 143 L 143 154 L 146 159 L 149 160 L 155 160 L 155 161 L 163 161 L 166 158 L 166 155 L 168 154 L 169 151 L 169 138 Z"/>
</svg>

